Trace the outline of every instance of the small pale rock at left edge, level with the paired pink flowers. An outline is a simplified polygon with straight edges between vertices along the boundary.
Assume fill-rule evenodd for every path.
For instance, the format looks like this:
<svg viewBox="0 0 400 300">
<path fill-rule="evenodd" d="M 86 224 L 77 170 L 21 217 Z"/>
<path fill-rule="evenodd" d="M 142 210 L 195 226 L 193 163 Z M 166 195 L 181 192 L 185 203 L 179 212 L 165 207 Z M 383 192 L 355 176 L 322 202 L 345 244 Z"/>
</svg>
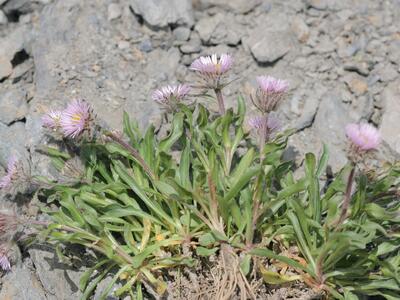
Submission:
<svg viewBox="0 0 400 300">
<path fill-rule="evenodd" d="M 0 94 L 0 122 L 9 125 L 25 118 L 27 113 L 28 105 L 24 90 L 14 89 Z"/>
</svg>

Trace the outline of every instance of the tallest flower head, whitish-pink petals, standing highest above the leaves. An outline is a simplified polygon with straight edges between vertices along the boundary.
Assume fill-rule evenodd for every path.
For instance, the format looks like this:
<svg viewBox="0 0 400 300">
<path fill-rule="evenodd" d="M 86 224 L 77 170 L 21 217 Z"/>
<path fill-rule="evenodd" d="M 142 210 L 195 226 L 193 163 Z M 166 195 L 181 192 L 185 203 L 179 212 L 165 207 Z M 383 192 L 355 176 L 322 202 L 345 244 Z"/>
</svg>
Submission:
<svg viewBox="0 0 400 300">
<path fill-rule="evenodd" d="M 233 65 L 233 58 L 229 54 L 217 54 L 202 56 L 193 61 L 190 69 L 197 72 L 206 82 L 207 87 L 220 89 L 225 83 L 221 82 L 223 75 L 228 72 Z"/>
</svg>

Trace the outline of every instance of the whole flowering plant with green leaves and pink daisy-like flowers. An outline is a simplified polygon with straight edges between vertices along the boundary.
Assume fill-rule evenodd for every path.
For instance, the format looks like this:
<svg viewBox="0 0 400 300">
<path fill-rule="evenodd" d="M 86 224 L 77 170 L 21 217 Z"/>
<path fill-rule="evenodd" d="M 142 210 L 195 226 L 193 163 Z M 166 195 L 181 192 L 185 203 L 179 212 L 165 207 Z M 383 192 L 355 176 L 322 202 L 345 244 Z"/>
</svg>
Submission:
<svg viewBox="0 0 400 300">
<path fill-rule="evenodd" d="M 38 236 L 60 256 L 67 244 L 94 250 L 96 263 L 80 281 L 82 299 L 109 273 L 102 299 L 117 281 L 116 296 L 143 299 L 143 289 L 161 295 L 171 280 L 166 270 L 191 268 L 210 256 L 218 258 L 220 272 L 208 299 L 256 298 L 259 278 L 269 285 L 301 281 L 328 298 L 398 299 L 400 168 L 382 167 L 372 177 L 357 168 L 379 147 L 378 130 L 368 124 L 345 129 L 350 163 L 326 186 L 320 186 L 326 147 L 319 159 L 306 154 L 304 176 L 295 179 L 294 163 L 282 159 L 291 131 L 279 132 L 273 113 L 288 82 L 258 77 L 251 100 L 259 114 L 245 122 L 245 101 L 239 97 L 237 109 L 226 110 L 223 99 L 232 65 L 230 55 L 214 54 L 190 67 L 202 88 L 215 91 L 218 114 L 185 104 L 185 84 L 153 93 L 172 114 L 167 136 L 153 126 L 142 134 L 127 114 L 124 134 L 102 128 L 84 100 L 49 111 L 43 127 L 74 147 L 47 152 L 60 171 L 72 170 L 63 171 L 72 180 L 31 177 L 50 222 L 0 214 L 3 270 L 11 268 L 4 245 L 23 225 L 42 228 Z M 11 158 L 2 189 L 25 178 L 18 170 Z"/>
</svg>

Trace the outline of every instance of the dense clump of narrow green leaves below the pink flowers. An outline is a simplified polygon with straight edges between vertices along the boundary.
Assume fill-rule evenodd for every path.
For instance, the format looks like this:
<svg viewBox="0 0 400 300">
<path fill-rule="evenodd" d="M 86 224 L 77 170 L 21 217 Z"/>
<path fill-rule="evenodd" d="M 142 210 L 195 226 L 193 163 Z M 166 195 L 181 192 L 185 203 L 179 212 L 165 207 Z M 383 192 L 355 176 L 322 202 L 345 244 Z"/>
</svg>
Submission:
<svg viewBox="0 0 400 300">
<path fill-rule="evenodd" d="M 98 256 L 81 278 L 83 299 L 115 269 L 102 298 L 117 281 L 123 282 L 117 296 L 142 299 L 144 282 L 162 294 L 166 269 L 193 266 L 199 257 L 218 255 L 222 245 L 240 254 L 244 276 L 257 266 L 255 258 L 268 260 L 257 271 L 269 284 L 301 280 L 337 299 L 398 299 L 399 166 L 356 176 L 350 214 L 337 224 L 351 167 L 321 187 L 324 149 L 319 159 L 306 155 L 304 176 L 295 179 L 293 162 L 282 160 L 290 132 L 278 134 L 260 154 L 244 117 L 242 99 L 237 111 L 222 116 L 200 104 L 179 105 L 164 125 L 170 126 L 167 136 L 153 126 L 143 135 L 124 115 L 128 142 L 79 145 L 82 176 L 73 184 L 50 184 L 41 194 L 58 205 L 43 207 L 52 219 L 43 232 L 47 240 L 57 249 L 83 245 Z M 75 155 L 48 153 L 59 169 Z M 285 275 L 282 266 L 297 275 Z"/>
</svg>

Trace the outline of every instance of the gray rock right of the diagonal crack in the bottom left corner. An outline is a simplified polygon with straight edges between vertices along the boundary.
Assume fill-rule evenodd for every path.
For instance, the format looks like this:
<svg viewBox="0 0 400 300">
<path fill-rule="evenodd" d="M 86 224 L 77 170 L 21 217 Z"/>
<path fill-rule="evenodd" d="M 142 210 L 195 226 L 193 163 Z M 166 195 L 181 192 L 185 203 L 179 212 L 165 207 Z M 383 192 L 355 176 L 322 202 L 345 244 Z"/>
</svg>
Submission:
<svg viewBox="0 0 400 300">
<path fill-rule="evenodd" d="M 78 285 L 82 272 L 60 263 L 54 252 L 29 249 L 29 255 L 43 289 L 47 292 L 47 299 L 75 300 L 80 298 Z"/>
</svg>

